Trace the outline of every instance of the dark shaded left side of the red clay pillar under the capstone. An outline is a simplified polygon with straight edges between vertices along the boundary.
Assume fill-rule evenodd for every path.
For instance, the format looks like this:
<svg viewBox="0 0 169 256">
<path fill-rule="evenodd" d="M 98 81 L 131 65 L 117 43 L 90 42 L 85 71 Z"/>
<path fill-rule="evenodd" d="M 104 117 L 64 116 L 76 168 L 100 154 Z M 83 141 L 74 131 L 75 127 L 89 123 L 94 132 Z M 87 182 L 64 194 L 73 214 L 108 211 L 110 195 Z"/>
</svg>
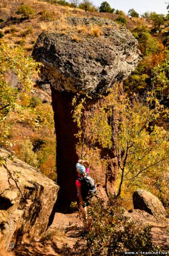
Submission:
<svg viewBox="0 0 169 256">
<path fill-rule="evenodd" d="M 78 161 L 75 145 L 77 139 L 76 124 L 72 119 L 72 98 L 52 88 L 52 104 L 56 128 L 56 165 L 57 183 L 60 186 L 59 204 L 70 205 L 76 201 L 77 191 L 75 180 L 77 177 L 75 163 Z"/>
</svg>

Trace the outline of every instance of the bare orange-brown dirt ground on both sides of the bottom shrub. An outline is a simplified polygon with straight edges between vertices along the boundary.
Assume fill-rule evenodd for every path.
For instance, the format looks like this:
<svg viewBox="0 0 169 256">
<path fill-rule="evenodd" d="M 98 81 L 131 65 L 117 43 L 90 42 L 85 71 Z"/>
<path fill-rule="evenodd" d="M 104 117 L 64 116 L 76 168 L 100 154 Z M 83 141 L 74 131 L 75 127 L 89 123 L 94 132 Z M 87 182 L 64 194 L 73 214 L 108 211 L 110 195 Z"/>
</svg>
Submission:
<svg viewBox="0 0 169 256">
<path fill-rule="evenodd" d="M 138 225 L 151 225 L 154 243 L 162 247 L 163 251 L 169 250 L 169 218 L 157 219 L 141 210 L 133 210 L 131 213 L 126 213 L 126 216 Z M 44 237 L 44 242 L 18 246 L 11 256 L 64 255 L 62 253 L 63 246 L 67 244 L 68 247 L 73 248 L 73 245 L 81 237 L 82 230 L 83 222 L 78 213 L 56 213 L 53 224 L 46 233 L 46 239 Z"/>
</svg>

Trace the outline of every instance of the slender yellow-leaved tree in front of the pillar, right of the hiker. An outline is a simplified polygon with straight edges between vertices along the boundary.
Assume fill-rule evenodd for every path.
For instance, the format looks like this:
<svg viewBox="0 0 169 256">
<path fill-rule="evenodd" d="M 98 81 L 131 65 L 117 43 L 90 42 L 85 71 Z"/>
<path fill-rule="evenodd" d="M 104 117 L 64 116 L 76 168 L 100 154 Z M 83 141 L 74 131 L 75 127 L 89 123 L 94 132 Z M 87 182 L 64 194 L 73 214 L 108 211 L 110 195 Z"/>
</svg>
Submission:
<svg viewBox="0 0 169 256">
<path fill-rule="evenodd" d="M 120 94 L 116 85 L 87 115 L 83 114 L 84 102 L 83 99 L 76 106 L 73 115 L 79 127 L 81 157 L 87 154 L 87 144 L 93 150 L 99 144 L 113 151 L 118 169 L 117 196 L 124 183 L 132 186 L 139 183 L 147 171 L 161 173 L 164 166 L 169 165 L 169 132 L 157 125 L 158 118 L 168 111 L 153 93 L 143 98 L 134 94 L 129 98 Z M 109 161 L 112 159 L 108 156 L 107 163 Z M 110 178 L 107 173 L 106 181 Z"/>
</svg>

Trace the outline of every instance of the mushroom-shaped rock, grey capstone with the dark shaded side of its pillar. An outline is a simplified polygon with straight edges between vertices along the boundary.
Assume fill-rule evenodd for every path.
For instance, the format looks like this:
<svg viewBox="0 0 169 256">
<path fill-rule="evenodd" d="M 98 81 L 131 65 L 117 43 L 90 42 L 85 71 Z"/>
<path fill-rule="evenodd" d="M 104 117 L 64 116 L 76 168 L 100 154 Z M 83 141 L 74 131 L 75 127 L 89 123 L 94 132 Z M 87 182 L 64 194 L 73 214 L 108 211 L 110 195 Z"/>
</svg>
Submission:
<svg viewBox="0 0 169 256">
<path fill-rule="evenodd" d="M 75 93 L 97 97 L 116 82 L 123 81 L 140 62 L 137 40 L 112 20 L 68 18 L 53 32 L 39 35 L 32 53 L 43 63 L 42 78 L 51 84 L 56 127 L 57 182 L 60 202 L 76 200 L 78 160 L 72 118 Z"/>
</svg>

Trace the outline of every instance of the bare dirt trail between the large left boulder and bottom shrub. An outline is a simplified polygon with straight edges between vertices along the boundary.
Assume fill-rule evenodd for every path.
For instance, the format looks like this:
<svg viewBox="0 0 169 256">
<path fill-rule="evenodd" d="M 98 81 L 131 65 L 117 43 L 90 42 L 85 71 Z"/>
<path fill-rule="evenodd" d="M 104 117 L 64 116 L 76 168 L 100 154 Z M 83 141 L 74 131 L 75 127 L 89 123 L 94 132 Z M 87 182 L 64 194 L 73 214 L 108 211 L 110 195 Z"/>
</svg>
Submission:
<svg viewBox="0 0 169 256">
<path fill-rule="evenodd" d="M 73 248 L 83 230 L 83 222 L 78 213 L 56 213 L 54 221 L 46 232 L 43 242 L 32 242 L 17 246 L 14 253 L 3 256 L 60 256 L 64 244 Z M 0 254 L 1 256 L 1 254 Z"/>
</svg>

